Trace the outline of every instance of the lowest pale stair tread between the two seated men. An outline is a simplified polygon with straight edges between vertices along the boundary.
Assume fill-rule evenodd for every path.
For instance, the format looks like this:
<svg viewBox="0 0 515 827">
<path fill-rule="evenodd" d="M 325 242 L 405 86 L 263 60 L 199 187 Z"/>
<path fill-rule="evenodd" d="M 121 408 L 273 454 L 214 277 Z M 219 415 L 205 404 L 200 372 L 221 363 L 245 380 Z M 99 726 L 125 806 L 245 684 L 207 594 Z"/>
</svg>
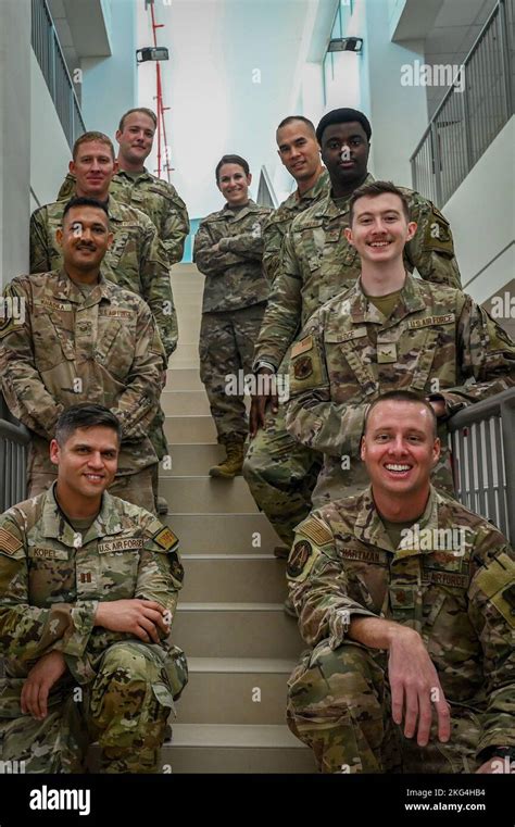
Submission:
<svg viewBox="0 0 515 827">
<path fill-rule="evenodd" d="M 173 724 L 165 747 L 244 747 L 248 749 L 307 747 L 280 724 Z"/>
</svg>

